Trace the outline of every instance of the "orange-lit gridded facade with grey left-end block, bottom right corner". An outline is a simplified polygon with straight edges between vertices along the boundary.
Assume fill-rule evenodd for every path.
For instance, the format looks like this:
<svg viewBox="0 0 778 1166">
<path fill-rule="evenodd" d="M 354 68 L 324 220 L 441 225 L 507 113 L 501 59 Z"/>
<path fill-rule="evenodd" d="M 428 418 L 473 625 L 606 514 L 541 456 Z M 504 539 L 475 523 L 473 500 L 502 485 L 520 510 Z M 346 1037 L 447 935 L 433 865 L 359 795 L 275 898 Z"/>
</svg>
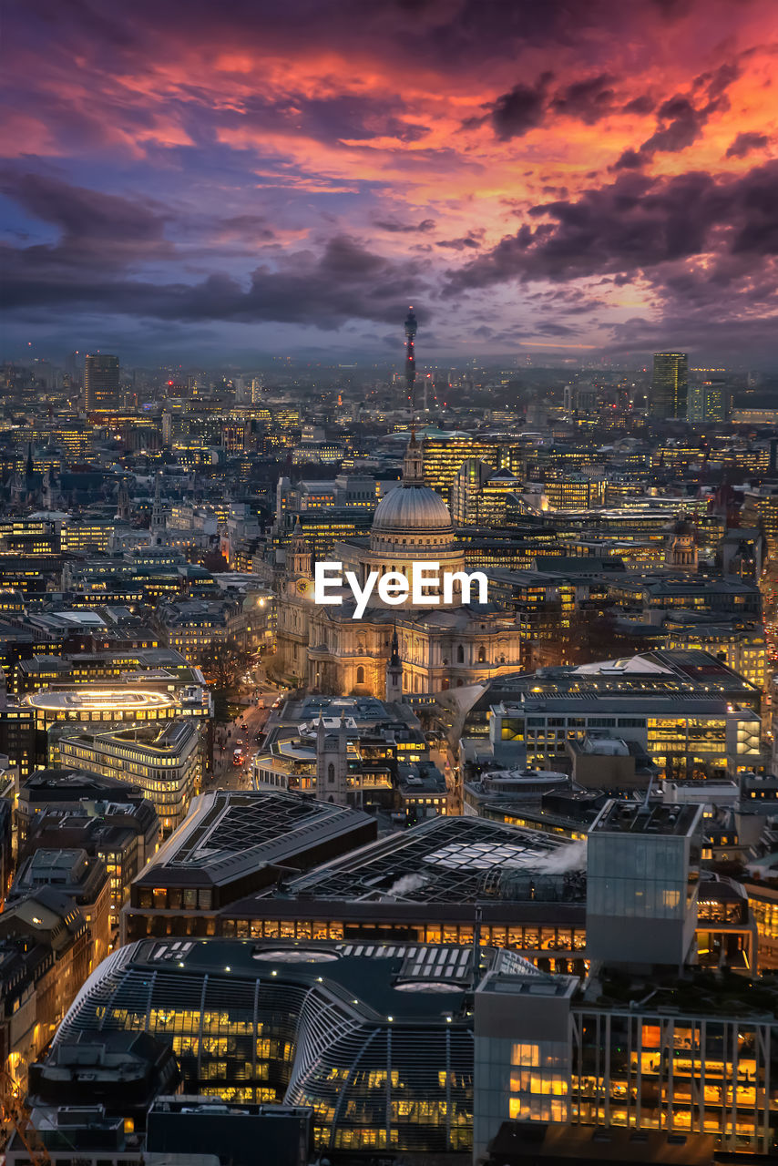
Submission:
<svg viewBox="0 0 778 1166">
<path fill-rule="evenodd" d="M 775 992 L 737 977 L 728 988 L 721 1007 L 712 982 L 710 995 L 646 983 L 653 998 L 642 1005 L 603 976 L 595 1004 L 572 977 L 498 963 L 476 992 L 476 1152 L 512 1119 L 665 1130 L 677 1142 L 707 1133 L 723 1152 L 775 1153 Z"/>
</svg>

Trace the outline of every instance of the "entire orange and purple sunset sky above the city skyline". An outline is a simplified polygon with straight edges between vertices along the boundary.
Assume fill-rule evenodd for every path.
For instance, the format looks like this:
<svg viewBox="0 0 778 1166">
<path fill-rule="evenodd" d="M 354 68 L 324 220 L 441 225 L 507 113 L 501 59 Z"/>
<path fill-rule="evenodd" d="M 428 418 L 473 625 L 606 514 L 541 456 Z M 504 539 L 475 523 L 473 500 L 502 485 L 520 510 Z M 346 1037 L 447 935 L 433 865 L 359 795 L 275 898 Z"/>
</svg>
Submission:
<svg viewBox="0 0 778 1166">
<path fill-rule="evenodd" d="M 775 0 L 28 0 L 0 357 L 778 366 Z M 30 347 L 28 347 L 30 345 Z"/>
</svg>

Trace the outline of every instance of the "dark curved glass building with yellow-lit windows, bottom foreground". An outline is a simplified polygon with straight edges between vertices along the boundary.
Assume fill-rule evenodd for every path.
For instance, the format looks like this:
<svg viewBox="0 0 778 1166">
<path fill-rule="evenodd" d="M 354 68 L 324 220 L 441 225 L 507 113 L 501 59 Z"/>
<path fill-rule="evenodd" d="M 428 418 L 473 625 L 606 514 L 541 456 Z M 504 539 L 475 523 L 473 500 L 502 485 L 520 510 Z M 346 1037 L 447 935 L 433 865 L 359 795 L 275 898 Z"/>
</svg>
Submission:
<svg viewBox="0 0 778 1166">
<path fill-rule="evenodd" d="M 330 946 L 322 961 L 293 949 L 274 962 L 238 941 L 131 944 L 90 977 L 55 1045 L 148 1032 L 173 1047 L 187 1093 L 310 1105 L 321 1149 L 469 1151 L 465 984 L 399 990 L 405 950 Z"/>
</svg>

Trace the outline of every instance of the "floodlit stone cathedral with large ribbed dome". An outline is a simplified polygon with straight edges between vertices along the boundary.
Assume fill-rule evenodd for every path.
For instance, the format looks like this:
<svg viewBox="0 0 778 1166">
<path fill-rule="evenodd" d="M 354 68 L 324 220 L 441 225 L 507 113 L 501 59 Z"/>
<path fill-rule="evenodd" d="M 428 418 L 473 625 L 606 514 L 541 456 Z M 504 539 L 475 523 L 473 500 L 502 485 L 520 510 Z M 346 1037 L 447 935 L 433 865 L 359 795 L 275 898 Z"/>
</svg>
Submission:
<svg viewBox="0 0 778 1166">
<path fill-rule="evenodd" d="M 370 540 L 337 543 L 335 559 L 360 580 L 377 570 L 412 577 L 414 563 L 432 556 L 442 573 L 461 571 L 464 553 L 440 494 L 425 485 L 423 456 L 412 441 L 400 485 L 379 503 Z M 432 693 L 477 683 L 519 666 L 520 637 L 512 614 L 496 605 L 457 602 L 414 607 L 408 592 L 402 606 L 374 596 L 359 620 L 353 606 L 314 603 L 310 554 L 292 547 L 285 588 L 278 600 L 278 649 L 285 676 L 304 679 L 323 693 L 383 695 L 392 627 L 397 621 L 404 690 Z M 433 584 L 440 588 L 440 583 Z"/>
</svg>

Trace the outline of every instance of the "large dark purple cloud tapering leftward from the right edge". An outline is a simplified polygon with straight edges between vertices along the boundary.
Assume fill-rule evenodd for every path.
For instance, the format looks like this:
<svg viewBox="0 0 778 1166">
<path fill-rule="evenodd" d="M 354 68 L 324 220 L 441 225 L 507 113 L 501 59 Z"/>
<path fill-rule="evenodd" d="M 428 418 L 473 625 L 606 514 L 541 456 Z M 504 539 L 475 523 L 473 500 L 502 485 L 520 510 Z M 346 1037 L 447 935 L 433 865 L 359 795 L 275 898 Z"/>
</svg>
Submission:
<svg viewBox="0 0 778 1166">
<path fill-rule="evenodd" d="M 778 162 L 721 181 L 624 174 L 576 201 L 533 206 L 530 217 L 544 222 L 449 272 L 449 294 L 514 279 L 624 276 L 706 252 L 748 252 L 758 266 L 778 253 Z"/>
</svg>

